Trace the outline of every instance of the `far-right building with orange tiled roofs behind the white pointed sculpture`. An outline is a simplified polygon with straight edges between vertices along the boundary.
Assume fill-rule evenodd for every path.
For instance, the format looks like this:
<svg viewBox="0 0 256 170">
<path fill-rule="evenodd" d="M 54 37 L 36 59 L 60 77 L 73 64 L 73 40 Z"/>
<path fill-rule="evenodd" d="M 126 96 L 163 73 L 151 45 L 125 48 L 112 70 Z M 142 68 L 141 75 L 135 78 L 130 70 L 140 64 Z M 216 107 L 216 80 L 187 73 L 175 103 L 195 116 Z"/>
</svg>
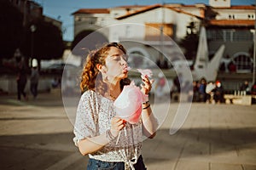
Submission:
<svg viewBox="0 0 256 170">
<path fill-rule="evenodd" d="M 253 69 L 255 6 L 230 6 L 230 1 L 218 1 L 221 1 L 223 5 L 220 6 L 216 4 L 216 1 L 210 1 L 215 17 L 205 21 L 209 51 L 214 52 L 216 48 L 224 44 L 225 71 L 228 70 L 228 65 L 232 61 L 236 65 L 237 72 L 251 72 Z"/>
</svg>

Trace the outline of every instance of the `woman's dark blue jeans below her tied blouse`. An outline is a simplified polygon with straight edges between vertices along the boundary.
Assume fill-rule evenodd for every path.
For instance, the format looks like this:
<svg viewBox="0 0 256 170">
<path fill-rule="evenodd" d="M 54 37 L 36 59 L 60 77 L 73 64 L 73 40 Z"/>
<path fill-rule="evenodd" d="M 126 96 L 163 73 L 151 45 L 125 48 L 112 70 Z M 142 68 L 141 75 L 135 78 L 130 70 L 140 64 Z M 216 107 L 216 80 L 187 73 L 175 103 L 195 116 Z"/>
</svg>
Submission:
<svg viewBox="0 0 256 170">
<path fill-rule="evenodd" d="M 137 163 L 134 165 L 136 170 L 146 170 L 143 162 L 143 156 L 139 156 Z M 87 170 L 124 170 L 125 163 L 123 161 L 100 161 L 89 159 Z"/>
</svg>

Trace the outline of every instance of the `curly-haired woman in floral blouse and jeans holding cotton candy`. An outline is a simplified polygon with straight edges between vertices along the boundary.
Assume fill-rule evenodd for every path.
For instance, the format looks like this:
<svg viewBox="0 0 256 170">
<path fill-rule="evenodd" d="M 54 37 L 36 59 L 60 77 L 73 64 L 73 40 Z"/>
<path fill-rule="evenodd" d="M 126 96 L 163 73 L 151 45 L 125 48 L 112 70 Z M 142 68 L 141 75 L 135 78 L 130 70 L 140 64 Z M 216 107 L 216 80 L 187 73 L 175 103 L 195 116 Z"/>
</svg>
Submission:
<svg viewBox="0 0 256 170">
<path fill-rule="evenodd" d="M 141 156 L 143 134 L 153 138 L 157 128 L 148 101 L 143 103 L 141 120 L 135 124 L 115 116 L 113 108 L 113 101 L 130 83 L 127 75 L 126 51 L 117 42 L 91 52 L 86 59 L 80 83 L 84 94 L 73 140 L 81 154 L 90 157 L 87 169 L 146 169 Z M 153 80 L 142 78 L 142 92 L 148 94 Z"/>
</svg>

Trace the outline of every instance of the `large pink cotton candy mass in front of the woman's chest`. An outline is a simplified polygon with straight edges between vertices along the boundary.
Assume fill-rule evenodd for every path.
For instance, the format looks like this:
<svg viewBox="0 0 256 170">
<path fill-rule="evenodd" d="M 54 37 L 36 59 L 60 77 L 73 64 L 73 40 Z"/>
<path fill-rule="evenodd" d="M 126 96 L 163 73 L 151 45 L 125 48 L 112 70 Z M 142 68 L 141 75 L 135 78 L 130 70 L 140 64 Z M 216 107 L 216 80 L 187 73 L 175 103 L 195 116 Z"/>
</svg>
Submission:
<svg viewBox="0 0 256 170">
<path fill-rule="evenodd" d="M 131 124 L 137 123 L 142 114 L 143 95 L 134 82 L 125 86 L 122 93 L 113 102 L 116 115 Z"/>
</svg>

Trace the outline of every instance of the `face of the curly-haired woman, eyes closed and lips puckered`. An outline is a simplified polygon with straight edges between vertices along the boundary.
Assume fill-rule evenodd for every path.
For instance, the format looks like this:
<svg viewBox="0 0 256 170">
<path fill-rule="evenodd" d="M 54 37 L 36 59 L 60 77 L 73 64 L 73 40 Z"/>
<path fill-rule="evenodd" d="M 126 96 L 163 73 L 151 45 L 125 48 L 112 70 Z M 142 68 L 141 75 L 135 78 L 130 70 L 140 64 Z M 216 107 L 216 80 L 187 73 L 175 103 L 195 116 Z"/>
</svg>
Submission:
<svg viewBox="0 0 256 170">
<path fill-rule="evenodd" d="M 110 47 L 104 66 L 110 81 L 123 79 L 128 75 L 127 55 L 119 48 Z"/>
</svg>

